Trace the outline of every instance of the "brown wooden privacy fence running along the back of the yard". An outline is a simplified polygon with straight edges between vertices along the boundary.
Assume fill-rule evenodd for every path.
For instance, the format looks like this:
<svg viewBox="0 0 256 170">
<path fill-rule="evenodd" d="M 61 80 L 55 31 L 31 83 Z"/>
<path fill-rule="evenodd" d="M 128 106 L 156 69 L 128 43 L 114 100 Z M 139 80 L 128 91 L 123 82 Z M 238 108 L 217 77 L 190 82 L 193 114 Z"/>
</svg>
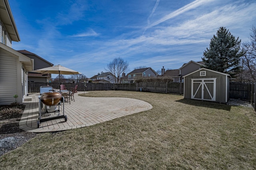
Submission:
<svg viewBox="0 0 256 170">
<path fill-rule="evenodd" d="M 183 83 L 126 83 L 126 84 L 112 84 L 112 83 L 63 83 L 66 89 L 70 90 L 77 84 L 78 91 L 94 91 L 94 90 L 126 90 L 126 91 L 150 91 L 154 93 L 169 93 L 169 94 L 183 94 Z M 59 89 L 59 83 L 42 83 L 29 82 L 28 93 L 39 93 L 40 86 L 50 85 L 55 89 Z M 250 102 L 254 109 L 255 106 L 255 81 L 249 83 L 230 82 L 229 97 L 234 99 L 242 99 Z"/>
</svg>

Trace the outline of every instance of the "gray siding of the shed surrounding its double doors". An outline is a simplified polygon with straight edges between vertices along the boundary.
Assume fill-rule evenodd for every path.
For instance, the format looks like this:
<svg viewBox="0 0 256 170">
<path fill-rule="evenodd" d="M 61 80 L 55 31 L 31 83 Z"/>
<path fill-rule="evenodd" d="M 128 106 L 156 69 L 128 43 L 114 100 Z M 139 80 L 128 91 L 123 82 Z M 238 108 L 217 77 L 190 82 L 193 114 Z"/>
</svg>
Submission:
<svg viewBox="0 0 256 170">
<path fill-rule="evenodd" d="M 200 71 L 206 71 L 206 76 L 200 76 Z M 191 99 L 191 87 L 192 87 L 191 79 L 216 78 L 216 102 L 226 103 L 226 94 L 228 95 L 228 91 L 229 91 L 229 89 L 226 89 L 226 83 L 228 83 L 227 85 L 229 87 L 229 78 L 228 78 L 228 82 L 226 82 L 226 75 L 222 75 L 222 74 L 204 70 L 204 69 L 200 71 L 197 71 L 185 77 L 184 98 Z M 213 87 L 210 86 L 210 88 L 213 88 Z"/>
</svg>

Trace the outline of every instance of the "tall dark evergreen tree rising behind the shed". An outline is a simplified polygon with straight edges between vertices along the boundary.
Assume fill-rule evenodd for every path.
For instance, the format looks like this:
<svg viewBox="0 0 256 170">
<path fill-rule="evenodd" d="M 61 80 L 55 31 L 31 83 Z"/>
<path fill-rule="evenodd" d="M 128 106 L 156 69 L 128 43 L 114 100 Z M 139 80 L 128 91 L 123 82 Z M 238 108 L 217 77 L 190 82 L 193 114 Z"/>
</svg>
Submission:
<svg viewBox="0 0 256 170">
<path fill-rule="evenodd" d="M 240 71 L 240 57 L 243 55 L 240 43 L 239 37 L 235 38 L 225 27 L 220 27 L 211 39 L 209 49 L 204 51 L 204 67 L 231 76 L 237 75 Z"/>
</svg>

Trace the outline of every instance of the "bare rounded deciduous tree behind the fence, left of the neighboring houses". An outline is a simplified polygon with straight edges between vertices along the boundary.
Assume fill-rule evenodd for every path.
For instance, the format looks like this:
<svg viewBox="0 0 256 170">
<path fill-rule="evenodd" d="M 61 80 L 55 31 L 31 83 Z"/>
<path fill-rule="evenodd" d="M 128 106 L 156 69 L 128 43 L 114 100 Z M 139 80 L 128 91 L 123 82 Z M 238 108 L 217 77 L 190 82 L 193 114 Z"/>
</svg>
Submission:
<svg viewBox="0 0 256 170">
<path fill-rule="evenodd" d="M 112 73 L 116 84 L 118 84 L 121 82 L 122 73 L 128 71 L 128 66 L 127 61 L 124 61 L 121 57 L 117 57 L 107 65 L 106 71 Z"/>
</svg>

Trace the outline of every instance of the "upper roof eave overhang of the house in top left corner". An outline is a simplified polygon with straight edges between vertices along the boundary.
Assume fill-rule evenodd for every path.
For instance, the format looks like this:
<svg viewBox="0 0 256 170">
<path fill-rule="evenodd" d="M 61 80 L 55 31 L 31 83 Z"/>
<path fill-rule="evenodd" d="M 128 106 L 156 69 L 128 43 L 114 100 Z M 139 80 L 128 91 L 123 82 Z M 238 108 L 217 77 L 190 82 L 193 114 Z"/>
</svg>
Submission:
<svg viewBox="0 0 256 170">
<path fill-rule="evenodd" d="M 8 0 L 0 1 L 0 20 L 4 24 L 12 41 L 19 42 L 20 36 L 16 27 Z"/>
</svg>

